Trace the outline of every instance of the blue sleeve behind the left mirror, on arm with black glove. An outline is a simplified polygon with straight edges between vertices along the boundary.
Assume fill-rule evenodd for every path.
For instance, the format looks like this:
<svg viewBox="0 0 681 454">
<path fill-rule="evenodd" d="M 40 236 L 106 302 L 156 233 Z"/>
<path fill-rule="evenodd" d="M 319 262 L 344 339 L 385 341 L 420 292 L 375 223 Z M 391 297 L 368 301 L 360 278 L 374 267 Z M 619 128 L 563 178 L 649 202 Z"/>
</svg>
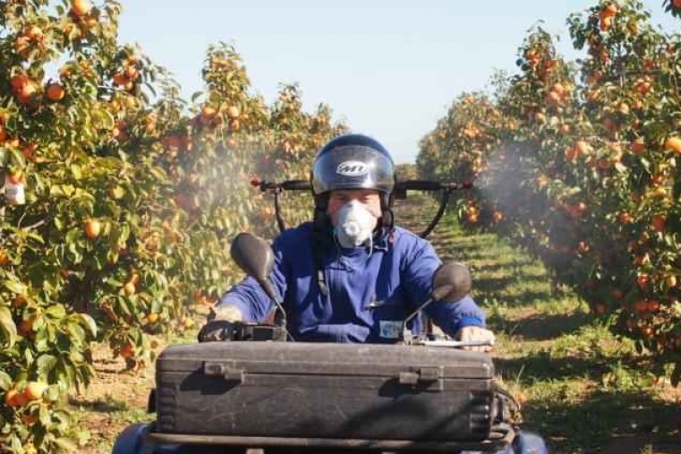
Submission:
<svg viewBox="0 0 681 454">
<path fill-rule="evenodd" d="M 272 287 L 279 297 L 280 301 L 284 300 L 286 294 L 286 278 L 288 276 L 288 266 L 285 263 L 283 252 L 282 236 L 277 236 L 272 250 L 275 255 L 275 263 L 272 268 L 272 273 L 269 280 L 272 282 Z M 274 302 L 260 287 L 255 278 L 246 277 L 239 284 L 230 288 L 222 298 L 220 298 L 217 307 L 226 307 L 233 305 L 243 313 L 244 321 L 264 321 L 268 313 L 274 307 Z"/>
</svg>

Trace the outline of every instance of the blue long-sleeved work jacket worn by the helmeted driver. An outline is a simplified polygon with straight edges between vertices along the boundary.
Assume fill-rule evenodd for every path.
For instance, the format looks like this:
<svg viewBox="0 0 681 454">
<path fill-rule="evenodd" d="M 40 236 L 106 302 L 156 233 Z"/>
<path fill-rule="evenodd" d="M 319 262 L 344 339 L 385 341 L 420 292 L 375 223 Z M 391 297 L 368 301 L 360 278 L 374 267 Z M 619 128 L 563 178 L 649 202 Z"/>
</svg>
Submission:
<svg viewBox="0 0 681 454">
<path fill-rule="evenodd" d="M 270 279 L 283 301 L 295 340 L 394 343 L 406 317 L 430 297 L 432 274 L 441 261 L 429 242 L 396 227 L 371 246 L 340 247 L 332 235 L 323 247 L 328 295 L 319 290 L 312 223 L 277 236 Z M 246 321 L 263 321 L 274 303 L 254 278 L 245 278 L 218 306 L 234 304 Z M 447 334 L 463 326 L 485 326 L 485 315 L 470 296 L 430 304 L 424 312 Z M 411 322 L 422 332 L 423 318 Z"/>
</svg>

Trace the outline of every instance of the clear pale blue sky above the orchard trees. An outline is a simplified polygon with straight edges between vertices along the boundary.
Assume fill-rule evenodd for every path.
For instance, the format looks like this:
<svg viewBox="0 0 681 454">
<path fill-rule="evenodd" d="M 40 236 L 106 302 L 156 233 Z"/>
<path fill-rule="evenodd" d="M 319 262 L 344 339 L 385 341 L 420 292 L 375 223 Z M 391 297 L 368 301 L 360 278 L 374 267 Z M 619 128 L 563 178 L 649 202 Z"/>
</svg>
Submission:
<svg viewBox="0 0 681 454">
<path fill-rule="evenodd" d="M 137 43 L 182 84 L 201 90 L 210 43 L 234 43 L 254 89 L 272 102 L 280 82 L 301 85 L 304 106 L 333 108 L 412 162 L 419 139 L 464 90 L 481 90 L 537 21 L 575 57 L 566 18 L 596 0 L 122 0 L 120 37 Z M 678 30 L 662 0 L 653 21 Z"/>
</svg>

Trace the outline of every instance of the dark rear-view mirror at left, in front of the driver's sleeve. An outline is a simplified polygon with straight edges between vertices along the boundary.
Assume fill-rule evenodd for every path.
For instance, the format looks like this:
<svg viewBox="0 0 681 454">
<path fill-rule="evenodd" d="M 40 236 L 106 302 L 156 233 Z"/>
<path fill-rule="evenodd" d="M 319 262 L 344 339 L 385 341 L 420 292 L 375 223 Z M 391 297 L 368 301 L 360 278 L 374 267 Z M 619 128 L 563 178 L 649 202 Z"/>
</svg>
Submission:
<svg viewBox="0 0 681 454">
<path fill-rule="evenodd" d="M 240 233 L 232 241 L 229 251 L 236 264 L 258 281 L 270 298 L 276 300 L 274 288 L 269 282 L 269 274 L 275 264 L 275 256 L 269 244 L 250 233 Z"/>
</svg>

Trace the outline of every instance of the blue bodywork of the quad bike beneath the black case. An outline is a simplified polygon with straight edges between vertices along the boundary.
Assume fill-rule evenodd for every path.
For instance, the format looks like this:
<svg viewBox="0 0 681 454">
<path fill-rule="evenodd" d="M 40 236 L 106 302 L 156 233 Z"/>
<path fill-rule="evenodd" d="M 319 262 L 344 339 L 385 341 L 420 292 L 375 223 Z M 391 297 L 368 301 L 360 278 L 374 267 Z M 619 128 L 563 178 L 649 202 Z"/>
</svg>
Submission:
<svg viewBox="0 0 681 454">
<path fill-rule="evenodd" d="M 220 445 L 195 445 L 158 443 L 146 439 L 152 425 L 146 423 L 132 424 L 121 433 L 115 441 L 112 454 L 226 454 L 244 452 L 243 449 L 230 449 Z M 319 452 L 321 450 L 318 450 Z M 265 451 L 267 454 L 267 450 Z M 285 450 L 277 450 L 285 452 Z M 329 452 L 329 450 L 324 450 Z M 352 450 L 345 450 L 351 453 Z M 464 450 L 453 454 L 491 454 L 483 451 Z M 518 431 L 514 441 L 506 450 L 496 451 L 494 454 L 548 454 L 546 444 L 540 436 L 533 433 Z"/>
</svg>

